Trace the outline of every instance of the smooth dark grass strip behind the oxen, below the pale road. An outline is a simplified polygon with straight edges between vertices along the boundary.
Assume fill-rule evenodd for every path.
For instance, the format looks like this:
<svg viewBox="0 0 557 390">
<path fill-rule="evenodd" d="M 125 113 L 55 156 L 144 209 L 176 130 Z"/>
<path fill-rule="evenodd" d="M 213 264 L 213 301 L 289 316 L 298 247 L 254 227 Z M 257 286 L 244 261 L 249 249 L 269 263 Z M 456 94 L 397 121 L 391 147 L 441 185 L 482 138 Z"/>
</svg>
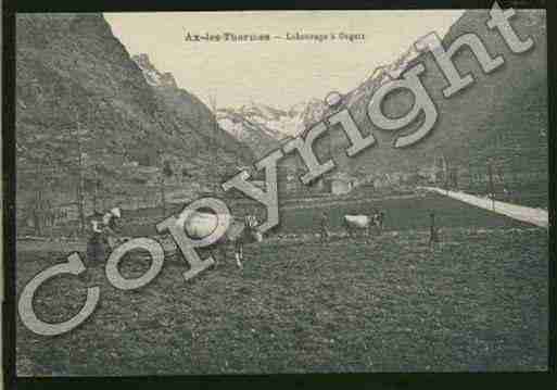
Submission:
<svg viewBox="0 0 557 390">
<path fill-rule="evenodd" d="M 253 212 L 262 210 L 258 203 L 251 202 L 235 204 L 230 210 L 233 215 L 244 215 L 245 210 Z M 175 206 L 167 215 L 179 213 L 181 206 Z M 332 230 L 343 229 L 342 217 L 345 214 L 370 214 L 372 209 L 385 212 L 385 228 L 388 230 L 429 229 L 429 213 L 434 212 L 438 227 L 521 227 L 528 226 L 509 218 L 494 217 L 489 211 L 482 211 L 440 194 L 394 196 L 370 200 L 358 199 L 351 201 L 343 198 L 328 198 L 312 202 L 289 202 L 280 207 L 279 226 L 268 232 L 268 236 L 302 234 L 317 231 L 319 216 L 326 212 Z M 126 212 L 125 212 L 126 213 Z M 259 219 L 264 212 L 259 213 Z M 128 219 L 126 214 L 124 219 Z M 163 221 L 159 211 L 134 212 L 131 222 L 123 226 L 122 232 L 127 236 L 156 235 L 155 225 Z"/>
</svg>

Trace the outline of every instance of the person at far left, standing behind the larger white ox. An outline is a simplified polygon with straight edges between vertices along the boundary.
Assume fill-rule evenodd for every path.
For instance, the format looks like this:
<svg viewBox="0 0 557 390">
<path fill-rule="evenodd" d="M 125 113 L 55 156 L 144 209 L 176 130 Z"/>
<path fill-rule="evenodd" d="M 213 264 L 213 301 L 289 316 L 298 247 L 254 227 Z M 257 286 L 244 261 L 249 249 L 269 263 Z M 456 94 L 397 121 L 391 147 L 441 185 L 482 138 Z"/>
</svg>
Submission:
<svg viewBox="0 0 557 390">
<path fill-rule="evenodd" d="M 114 207 L 111 211 L 101 214 L 96 212 L 91 218 L 92 235 L 87 243 L 87 259 L 93 262 L 106 259 L 106 247 L 112 249 L 116 242 L 117 234 L 116 218 L 121 218 L 122 213 L 119 207 Z"/>
</svg>

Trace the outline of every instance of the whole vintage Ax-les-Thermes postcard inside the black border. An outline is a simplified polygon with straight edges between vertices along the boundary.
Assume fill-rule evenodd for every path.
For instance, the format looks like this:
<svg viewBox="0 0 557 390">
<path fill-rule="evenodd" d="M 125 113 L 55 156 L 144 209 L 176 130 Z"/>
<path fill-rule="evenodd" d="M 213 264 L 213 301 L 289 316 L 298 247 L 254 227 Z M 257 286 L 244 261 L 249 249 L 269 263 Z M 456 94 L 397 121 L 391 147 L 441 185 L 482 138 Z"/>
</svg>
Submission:
<svg viewBox="0 0 557 390">
<path fill-rule="evenodd" d="M 548 369 L 545 10 L 15 17 L 17 376 Z"/>
</svg>

